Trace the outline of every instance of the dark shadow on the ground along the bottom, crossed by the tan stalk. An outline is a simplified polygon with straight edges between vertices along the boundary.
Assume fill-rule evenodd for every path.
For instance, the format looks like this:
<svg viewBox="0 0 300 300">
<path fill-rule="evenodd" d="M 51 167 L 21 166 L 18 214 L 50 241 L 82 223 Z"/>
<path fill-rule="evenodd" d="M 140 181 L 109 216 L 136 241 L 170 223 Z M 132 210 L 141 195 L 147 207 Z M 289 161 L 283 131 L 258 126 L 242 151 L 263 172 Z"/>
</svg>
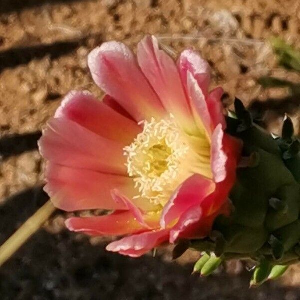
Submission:
<svg viewBox="0 0 300 300">
<path fill-rule="evenodd" d="M 47 200 L 41 187 L 11 197 L 0 207 L 1 243 Z M 192 276 L 191 265 L 162 256 L 138 259 L 92 246 L 68 231 L 39 231 L 0 268 L 1 300 L 283 300 L 298 299 L 300 289 L 278 282 L 248 288 L 250 274 Z"/>
</svg>

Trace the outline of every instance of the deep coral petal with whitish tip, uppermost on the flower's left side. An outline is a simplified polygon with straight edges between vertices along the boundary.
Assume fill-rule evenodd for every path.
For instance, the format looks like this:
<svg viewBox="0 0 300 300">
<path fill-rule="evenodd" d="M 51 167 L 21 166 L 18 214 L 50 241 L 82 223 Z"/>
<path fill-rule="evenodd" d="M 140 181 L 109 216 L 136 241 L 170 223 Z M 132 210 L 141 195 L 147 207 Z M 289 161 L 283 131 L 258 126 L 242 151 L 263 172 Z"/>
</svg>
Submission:
<svg viewBox="0 0 300 300">
<path fill-rule="evenodd" d="M 108 139 L 131 143 L 140 132 L 132 120 L 117 113 L 90 93 L 69 92 L 55 113 L 56 118 L 67 118 Z"/>
</svg>

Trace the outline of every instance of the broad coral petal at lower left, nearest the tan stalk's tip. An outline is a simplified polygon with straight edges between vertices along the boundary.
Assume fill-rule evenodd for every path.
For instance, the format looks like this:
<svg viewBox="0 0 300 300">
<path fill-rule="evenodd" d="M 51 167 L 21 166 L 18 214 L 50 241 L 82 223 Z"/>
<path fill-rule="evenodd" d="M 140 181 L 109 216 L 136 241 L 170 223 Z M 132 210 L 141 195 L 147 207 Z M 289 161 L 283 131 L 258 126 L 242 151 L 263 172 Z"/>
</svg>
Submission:
<svg viewBox="0 0 300 300">
<path fill-rule="evenodd" d="M 70 168 L 48 163 L 44 190 L 53 204 L 62 210 L 128 209 L 122 201 L 115 201 L 111 190 L 118 189 L 126 197 L 136 194 L 134 182 L 126 176 L 103 174 L 92 170 Z"/>
</svg>

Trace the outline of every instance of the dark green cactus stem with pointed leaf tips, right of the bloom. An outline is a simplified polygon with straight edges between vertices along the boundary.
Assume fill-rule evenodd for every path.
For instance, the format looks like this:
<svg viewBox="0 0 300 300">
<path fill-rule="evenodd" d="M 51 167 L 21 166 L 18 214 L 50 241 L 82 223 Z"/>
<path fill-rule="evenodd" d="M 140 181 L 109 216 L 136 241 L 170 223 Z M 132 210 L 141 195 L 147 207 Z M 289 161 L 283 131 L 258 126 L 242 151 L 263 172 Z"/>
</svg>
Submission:
<svg viewBox="0 0 300 300">
<path fill-rule="evenodd" d="M 219 216 L 211 236 L 191 240 L 188 247 L 203 253 L 194 272 L 207 276 L 222 261 L 251 259 L 250 285 L 280 277 L 300 257 L 300 143 L 291 120 L 282 136 L 272 136 L 253 123 L 242 102 L 227 118 L 227 131 L 243 141 L 237 179 L 229 198 L 229 217 Z M 181 246 L 183 249 L 183 246 Z"/>
</svg>

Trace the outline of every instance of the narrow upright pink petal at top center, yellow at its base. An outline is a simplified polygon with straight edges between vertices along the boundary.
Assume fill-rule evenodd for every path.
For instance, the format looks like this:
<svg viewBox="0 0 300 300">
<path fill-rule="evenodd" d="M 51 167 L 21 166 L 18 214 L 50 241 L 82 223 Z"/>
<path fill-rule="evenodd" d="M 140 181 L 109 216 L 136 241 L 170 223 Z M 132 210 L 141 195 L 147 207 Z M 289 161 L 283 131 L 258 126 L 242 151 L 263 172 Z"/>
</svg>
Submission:
<svg viewBox="0 0 300 300">
<path fill-rule="evenodd" d="M 189 132 L 196 130 L 176 65 L 171 57 L 159 49 L 154 36 L 146 36 L 139 42 L 137 59 L 165 109 Z"/>
</svg>

